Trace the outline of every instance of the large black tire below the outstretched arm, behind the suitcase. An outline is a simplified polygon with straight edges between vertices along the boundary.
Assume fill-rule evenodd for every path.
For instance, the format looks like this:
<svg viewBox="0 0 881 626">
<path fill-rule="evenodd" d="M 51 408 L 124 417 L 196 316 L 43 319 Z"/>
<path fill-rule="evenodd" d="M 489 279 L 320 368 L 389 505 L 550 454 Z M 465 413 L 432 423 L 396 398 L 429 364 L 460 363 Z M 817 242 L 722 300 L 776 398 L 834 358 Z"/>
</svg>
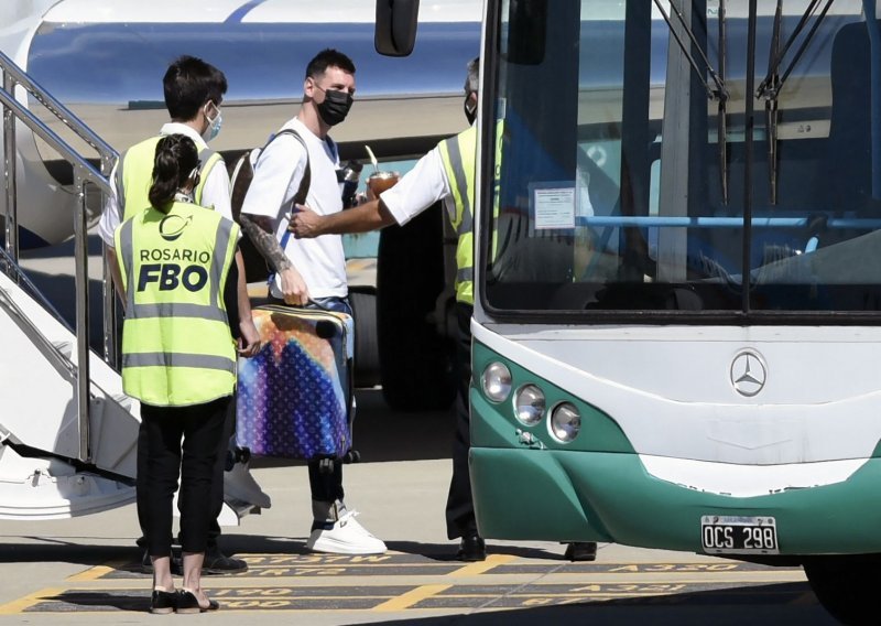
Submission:
<svg viewBox="0 0 881 626">
<path fill-rule="evenodd" d="M 444 290 L 440 204 L 380 233 L 377 325 L 382 397 L 402 411 L 443 410 L 456 396 L 455 344 L 432 321 Z"/>
</svg>

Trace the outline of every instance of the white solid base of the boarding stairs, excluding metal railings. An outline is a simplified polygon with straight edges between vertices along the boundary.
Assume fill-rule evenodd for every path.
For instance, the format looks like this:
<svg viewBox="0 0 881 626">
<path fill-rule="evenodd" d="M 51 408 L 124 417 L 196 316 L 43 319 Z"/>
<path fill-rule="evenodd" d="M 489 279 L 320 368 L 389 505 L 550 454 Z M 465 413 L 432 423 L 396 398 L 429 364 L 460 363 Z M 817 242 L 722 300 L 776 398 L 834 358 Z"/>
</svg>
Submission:
<svg viewBox="0 0 881 626">
<path fill-rule="evenodd" d="M 89 352 L 89 461 L 78 460 L 76 334 L 17 266 L 2 261 L 20 284 L 0 272 L 0 519 L 61 519 L 133 503 L 139 402 Z M 240 462 L 224 483 L 224 526 L 271 504 Z"/>
</svg>

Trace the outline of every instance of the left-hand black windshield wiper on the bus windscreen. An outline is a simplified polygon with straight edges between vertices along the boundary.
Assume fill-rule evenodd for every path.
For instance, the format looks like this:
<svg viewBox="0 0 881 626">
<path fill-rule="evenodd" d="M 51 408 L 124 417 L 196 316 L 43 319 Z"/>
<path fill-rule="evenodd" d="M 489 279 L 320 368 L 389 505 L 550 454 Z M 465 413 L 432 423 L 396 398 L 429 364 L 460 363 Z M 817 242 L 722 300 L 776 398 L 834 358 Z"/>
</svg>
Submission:
<svg viewBox="0 0 881 626">
<path fill-rule="evenodd" d="M 697 50 L 698 54 L 700 55 L 700 61 L 704 64 L 703 69 L 698 66 L 697 61 L 692 55 L 692 52 L 688 50 L 688 46 L 685 45 L 685 42 L 679 36 L 679 33 L 673 26 L 671 22 L 670 15 L 661 6 L 661 0 L 654 0 L 655 7 L 661 12 L 661 15 L 664 18 L 664 21 L 667 23 L 667 28 L 670 29 L 670 34 L 673 35 L 673 39 L 676 40 L 676 43 L 679 46 L 679 50 L 688 60 L 688 64 L 692 66 L 692 69 L 697 75 L 700 83 L 704 85 L 704 88 L 707 91 L 707 97 L 710 100 L 717 100 L 719 102 L 718 108 L 718 116 L 717 116 L 717 126 L 716 132 L 717 138 L 716 141 L 719 145 L 719 175 L 721 177 L 721 187 L 722 187 L 722 203 L 728 204 L 728 87 L 725 84 L 725 48 L 727 44 L 727 33 L 726 33 L 726 24 L 725 24 L 725 0 L 719 0 L 719 72 L 717 73 L 713 68 L 713 64 L 710 64 L 709 58 L 707 58 L 707 54 L 700 47 L 700 44 L 697 42 L 697 37 L 692 31 L 688 23 L 685 21 L 685 15 L 683 15 L 682 10 L 676 6 L 673 0 L 670 0 L 670 7 L 673 9 L 673 12 L 676 14 L 676 18 L 679 21 L 685 33 L 688 35 L 688 40 L 690 41 L 692 45 Z M 709 74 L 713 83 L 715 85 L 715 89 L 710 86 L 709 80 L 706 78 L 706 74 Z"/>
</svg>

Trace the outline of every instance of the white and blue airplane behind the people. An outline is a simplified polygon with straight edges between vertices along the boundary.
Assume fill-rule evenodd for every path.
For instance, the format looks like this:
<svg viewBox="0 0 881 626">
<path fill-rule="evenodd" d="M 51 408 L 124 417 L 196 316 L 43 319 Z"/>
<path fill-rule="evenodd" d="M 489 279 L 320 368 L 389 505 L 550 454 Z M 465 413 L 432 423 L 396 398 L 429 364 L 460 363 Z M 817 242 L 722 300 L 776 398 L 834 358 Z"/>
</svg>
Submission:
<svg viewBox="0 0 881 626">
<path fill-rule="evenodd" d="M 480 2 L 423 2 L 420 42 L 406 58 L 373 50 L 374 12 L 359 0 L 14 0 L 0 7 L 0 50 L 118 151 L 167 121 L 168 63 L 181 54 L 204 58 L 229 82 L 224 130 L 211 147 L 236 153 L 261 145 L 296 112 L 306 63 L 336 47 L 356 62 L 358 80 L 357 105 L 333 133 L 340 156 L 365 159 L 366 143 L 380 158 L 424 153 L 463 129 L 463 76 L 478 52 Z M 61 128 L 51 114 L 34 112 Z M 63 241 L 73 230 L 57 218 L 57 197 L 69 169 L 39 141 L 20 138 L 18 147 L 28 180 L 20 204 L 32 207 L 20 217 L 21 245 Z"/>
</svg>

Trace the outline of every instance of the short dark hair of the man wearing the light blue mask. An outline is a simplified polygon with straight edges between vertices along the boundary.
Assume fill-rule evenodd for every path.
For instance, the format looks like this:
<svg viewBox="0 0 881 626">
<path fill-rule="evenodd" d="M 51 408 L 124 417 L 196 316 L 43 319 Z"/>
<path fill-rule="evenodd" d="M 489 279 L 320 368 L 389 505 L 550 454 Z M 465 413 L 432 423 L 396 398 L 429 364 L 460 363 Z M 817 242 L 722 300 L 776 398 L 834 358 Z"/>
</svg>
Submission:
<svg viewBox="0 0 881 626">
<path fill-rule="evenodd" d="M 168 115 L 174 120 L 188 121 L 208 100 L 220 106 L 227 93 L 227 77 L 210 63 L 184 55 L 168 66 L 162 86 Z"/>
</svg>

